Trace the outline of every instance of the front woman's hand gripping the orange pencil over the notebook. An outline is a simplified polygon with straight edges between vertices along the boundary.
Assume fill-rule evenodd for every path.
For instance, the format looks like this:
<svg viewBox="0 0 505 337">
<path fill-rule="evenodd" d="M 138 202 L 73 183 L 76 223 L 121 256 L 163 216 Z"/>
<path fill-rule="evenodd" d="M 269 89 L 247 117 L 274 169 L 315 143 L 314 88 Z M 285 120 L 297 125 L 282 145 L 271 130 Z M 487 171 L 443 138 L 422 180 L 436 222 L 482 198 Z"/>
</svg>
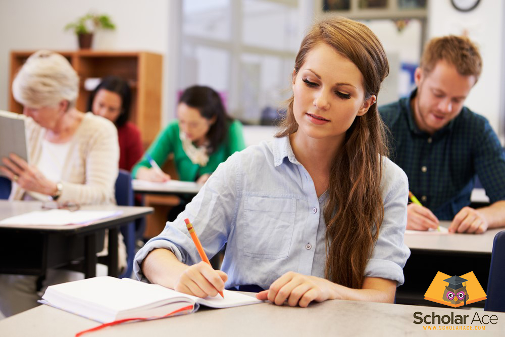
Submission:
<svg viewBox="0 0 505 337">
<path fill-rule="evenodd" d="M 215 270 L 208 263 L 201 261 L 187 267 L 175 283 L 174 290 L 205 298 L 216 296 L 224 290 L 228 275 L 221 270 Z"/>
</svg>

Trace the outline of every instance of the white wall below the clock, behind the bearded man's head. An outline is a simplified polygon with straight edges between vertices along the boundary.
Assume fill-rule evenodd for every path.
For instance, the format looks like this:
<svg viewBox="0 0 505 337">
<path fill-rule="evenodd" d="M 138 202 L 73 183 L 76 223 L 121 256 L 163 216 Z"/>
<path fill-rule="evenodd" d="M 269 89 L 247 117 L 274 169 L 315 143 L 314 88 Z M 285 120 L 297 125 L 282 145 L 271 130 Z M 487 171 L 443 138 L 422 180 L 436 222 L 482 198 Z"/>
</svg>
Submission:
<svg viewBox="0 0 505 337">
<path fill-rule="evenodd" d="M 477 43 L 483 59 L 482 75 L 470 92 L 465 105 L 485 116 L 493 129 L 503 135 L 503 20 L 505 2 L 481 1 L 471 12 L 454 9 L 450 1 L 430 1 L 428 9 L 428 38 L 447 34 L 462 35 Z"/>
</svg>

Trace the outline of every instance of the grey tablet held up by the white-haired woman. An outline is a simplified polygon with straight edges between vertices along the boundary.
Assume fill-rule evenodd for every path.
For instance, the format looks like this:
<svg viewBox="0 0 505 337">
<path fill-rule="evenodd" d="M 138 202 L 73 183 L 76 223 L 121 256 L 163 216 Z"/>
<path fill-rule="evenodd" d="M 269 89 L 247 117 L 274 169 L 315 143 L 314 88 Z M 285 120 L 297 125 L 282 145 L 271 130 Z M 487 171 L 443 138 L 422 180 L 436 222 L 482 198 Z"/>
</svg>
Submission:
<svg viewBox="0 0 505 337">
<path fill-rule="evenodd" d="M 28 161 L 25 119 L 21 114 L 0 110 L 0 160 L 15 153 Z M 2 172 L 0 175 L 3 175 Z"/>
</svg>

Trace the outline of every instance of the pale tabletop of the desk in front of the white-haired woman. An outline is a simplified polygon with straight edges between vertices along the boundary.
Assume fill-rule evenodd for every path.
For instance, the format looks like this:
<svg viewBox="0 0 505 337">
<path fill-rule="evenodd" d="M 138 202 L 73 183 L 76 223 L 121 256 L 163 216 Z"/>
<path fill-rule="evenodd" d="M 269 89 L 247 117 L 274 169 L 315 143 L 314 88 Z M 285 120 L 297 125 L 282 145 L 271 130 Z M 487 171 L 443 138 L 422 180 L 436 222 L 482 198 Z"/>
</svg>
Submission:
<svg viewBox="0 0 505 337">
<path fill-rule="evenodd" d="M 27 212 L 40 211 L 42 209 L 42 203 L 38 201 L 7 201 L 0 200 L 0 220 L 20 215 Z M 121 211 L 121 214 L 116 216 L 100 219 L 93 222 L 91 225 L 99 225 L 110 222 L 117 222 L 129 217 L 138 218 L 141 215 L 146 215 L 153 213 L 152 207 L 130 207 L 130 206 L 115 206 L 115 205 L 86 205 L 81 206 L 80 210 L 92 210 L 92 211 Z M 0 225 L 2 228 L 29 228 L 33 230 L 52 230 L 52 231 L 65 231 L 74 230 L 82 227 L 88 227 L 90 225 L 65 225 L 65 226 L 33 226 L 33 225 Z"/>
</svg>

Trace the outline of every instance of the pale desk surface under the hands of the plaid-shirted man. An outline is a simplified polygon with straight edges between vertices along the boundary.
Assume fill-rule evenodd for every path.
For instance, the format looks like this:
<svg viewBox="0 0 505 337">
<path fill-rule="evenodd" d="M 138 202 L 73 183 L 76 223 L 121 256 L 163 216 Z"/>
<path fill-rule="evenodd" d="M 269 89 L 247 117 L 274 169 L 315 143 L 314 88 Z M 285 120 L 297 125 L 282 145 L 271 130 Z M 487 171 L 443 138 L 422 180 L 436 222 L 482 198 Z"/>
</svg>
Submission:
<svg viewBox="0 0 505 337">
<path fill-rule="evenodd" d="M 440 221 L 443 227 L 449 227 L 449 221 Z M 489 253 L 493 250 L 494 236 L 505 228 L 495 228 L 483 234 L 436 234 L 423 233 L 405 234 L 405 244 L 410 249 L 426 249 L 437 251 L 458 251 Z"/>
</svg>

